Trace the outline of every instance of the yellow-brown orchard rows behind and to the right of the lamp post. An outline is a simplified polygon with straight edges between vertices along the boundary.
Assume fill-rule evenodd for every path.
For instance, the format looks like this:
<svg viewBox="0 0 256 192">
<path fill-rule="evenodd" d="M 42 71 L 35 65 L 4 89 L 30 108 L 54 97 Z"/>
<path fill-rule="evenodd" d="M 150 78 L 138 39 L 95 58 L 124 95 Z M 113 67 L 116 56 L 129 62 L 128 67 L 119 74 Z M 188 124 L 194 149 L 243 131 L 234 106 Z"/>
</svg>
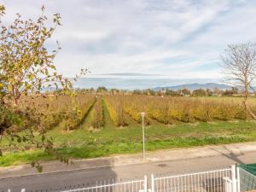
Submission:
<svg viewBox="0 0 256 192">
<path fill-rule="evenodd" d="M 122 101 L 125 113 L 138 123 L 141 112 L 146 119 L 155 119 L 163 124 L 175 121 L 195 122 L 212 120 L 245 119 L 241 98 L 230 97 L 160 97 L 160 96 L 112 96 L 108 100 Z M 253 102 L 252 109 L 255 108 Z M 118 115 L 118 114 L 115 114 Z"/>
</svg>

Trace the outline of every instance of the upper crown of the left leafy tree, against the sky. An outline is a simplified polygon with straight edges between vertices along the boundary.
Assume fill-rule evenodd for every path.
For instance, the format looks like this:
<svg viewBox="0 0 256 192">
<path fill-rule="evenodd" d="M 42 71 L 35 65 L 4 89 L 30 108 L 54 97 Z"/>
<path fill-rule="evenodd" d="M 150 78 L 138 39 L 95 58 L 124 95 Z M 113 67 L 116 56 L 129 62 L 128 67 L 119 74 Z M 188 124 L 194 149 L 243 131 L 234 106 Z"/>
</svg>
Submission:
<svg viewBox="0 0 256 192">
<path fill-rule="evenodd" d="M 51 38 L 56 26 L 60 26 L 61 16 L 54 15 L 54 26 L 47 28 L 47 17 L 38 20 L 21 20 L 17 15 L 10 26 L 2 26 L 0 32 L 0 89 L 1 95 L 9 97 L 15 105 L 28 93 L 40 92 L 44 86 L 61 85 L 64 90 L 72 88 L 72 83 L 56 73 L 53 63 L 57 49 L 49 52 L 45 42 Z"/>
</svg>

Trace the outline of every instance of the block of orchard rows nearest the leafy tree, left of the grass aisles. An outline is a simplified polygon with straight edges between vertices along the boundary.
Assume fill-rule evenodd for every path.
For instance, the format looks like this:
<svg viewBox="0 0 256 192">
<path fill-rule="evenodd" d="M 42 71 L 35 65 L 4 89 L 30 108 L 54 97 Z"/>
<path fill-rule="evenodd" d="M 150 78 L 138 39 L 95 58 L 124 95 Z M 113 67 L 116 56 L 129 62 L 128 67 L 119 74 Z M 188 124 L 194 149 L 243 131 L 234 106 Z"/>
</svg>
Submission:
<svg viewBox="0 0 256 192">
<path fill-rule="evenodd" d="M 64 129 L 71 130 L 78 127 L 94 102 L 95 96 L 92 95 L 48 95 L 27 96 L 22 105 L 24 108 L 33 106 L 44 129 L 49 130 L 61 125 Z"/>
</svg>

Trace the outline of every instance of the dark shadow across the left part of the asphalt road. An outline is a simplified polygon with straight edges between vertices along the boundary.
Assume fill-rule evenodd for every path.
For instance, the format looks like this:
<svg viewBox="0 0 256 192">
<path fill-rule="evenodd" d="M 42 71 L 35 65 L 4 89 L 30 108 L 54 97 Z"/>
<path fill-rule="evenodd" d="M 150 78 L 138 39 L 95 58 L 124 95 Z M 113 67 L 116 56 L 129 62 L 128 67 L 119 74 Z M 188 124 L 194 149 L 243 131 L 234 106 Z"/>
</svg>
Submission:
<svg viewBox="0 0 256 192">
<path fill-rule="evenodd" d="M 114 183 L 117 175 L 111 168 L 112 162 L 105 161 L 101 162 L 107 165 L 103 168 L 0 179 L 0 192 L 8 192 L 8 189 L 11 189 L 10 192 L 20 192 L 21 189 L 26 189 L 26 192 L 58 192 Z"/>
</svg>

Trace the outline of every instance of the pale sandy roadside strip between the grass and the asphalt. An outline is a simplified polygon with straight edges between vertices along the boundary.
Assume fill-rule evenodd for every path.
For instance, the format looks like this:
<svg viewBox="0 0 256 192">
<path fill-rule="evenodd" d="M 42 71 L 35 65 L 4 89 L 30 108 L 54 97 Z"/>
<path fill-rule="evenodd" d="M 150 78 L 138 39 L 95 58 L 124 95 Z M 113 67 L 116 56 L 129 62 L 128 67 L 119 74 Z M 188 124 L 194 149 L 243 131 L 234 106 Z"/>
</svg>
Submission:
<svg viewBox="0 0 256 192">
<path fill-rule="evenodd" d="M 256 151 L 256 142 L 217 146 L 214 145 L 196 148 L 164 149 L 146 153 L 145 160 L 142 159 L 142 154 L 122 154 L 96 159 L 73 160 L 73 164 L 68 166 L 59 161 L 49 161 L 42 163 L 44 167 L 42 173 L 38 173 L 30 165 L 0 167 L 0 178 L 24 177 L 27 175 L 49 174 L 54 172 L 73 172 L 99 167 L 126 166 L 150 162 L 161 162 L 166 160 L 189 160 L 218 155 L 229 155 L 231 157 L 236 157 L 237 155 L 253 151 Z"/>
</svg>

